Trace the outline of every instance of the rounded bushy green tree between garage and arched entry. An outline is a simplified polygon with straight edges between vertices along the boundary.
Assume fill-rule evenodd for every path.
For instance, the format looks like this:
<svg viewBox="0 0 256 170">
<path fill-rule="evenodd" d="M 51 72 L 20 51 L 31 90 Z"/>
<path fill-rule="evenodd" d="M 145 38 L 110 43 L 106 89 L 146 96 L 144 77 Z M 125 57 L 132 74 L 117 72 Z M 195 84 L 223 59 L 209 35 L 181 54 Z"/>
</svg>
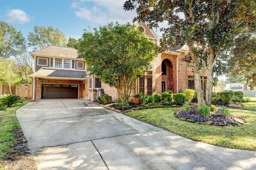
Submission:
<svg viewBox="0 0 256 170">
<path fill-rule="evenodd" d="M 156 54 L 156 45 L 129 23 L 85 30 L 78 45 L 78 55 L 88 64 L 90 74 L 115 87 L 122 101 L 128 100 L 135 81 L 149 69 Z"/>
</svg>

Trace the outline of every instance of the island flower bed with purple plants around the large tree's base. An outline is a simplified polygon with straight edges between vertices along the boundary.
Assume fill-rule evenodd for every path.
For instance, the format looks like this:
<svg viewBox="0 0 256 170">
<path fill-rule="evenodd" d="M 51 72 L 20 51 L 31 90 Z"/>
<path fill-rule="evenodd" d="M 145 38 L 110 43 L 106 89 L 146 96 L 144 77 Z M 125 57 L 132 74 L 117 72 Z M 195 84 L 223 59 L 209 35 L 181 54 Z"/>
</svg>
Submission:
<svg viewBox="0 0 256 170">
<path fill-rule="evenodd" d="M 242 118 L 230 115 L 226 108 L 223 108 L 223 110 L 218 109 L 217 112 L 210 113 L 210 108 L 207 109 L 207 106 L 205 105 L 203 105 L 202 107 L 198 107 L 199 109 L 195 105 L 189 107 L 189 111 L 178 111 L 175 112 L 174 115 L 182 121 L 200 124 L 235 126 L 245 123 L 245 120 L 243 120 Z"/>
</svg>

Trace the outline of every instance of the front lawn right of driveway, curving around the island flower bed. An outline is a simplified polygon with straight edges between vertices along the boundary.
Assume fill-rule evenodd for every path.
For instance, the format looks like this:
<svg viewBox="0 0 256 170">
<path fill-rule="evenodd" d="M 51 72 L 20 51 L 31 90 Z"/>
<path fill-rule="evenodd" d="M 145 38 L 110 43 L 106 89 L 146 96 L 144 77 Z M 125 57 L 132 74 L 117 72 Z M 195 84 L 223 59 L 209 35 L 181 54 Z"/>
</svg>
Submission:
<svg viewBox="0 0 256 170">
<path fill-rule="evenodd" d="M 226 148 L 256 151 L 256 112 L 230 109 L 232 114 L 243 117 L 247 123 L 239 126 L 213 126 L 179 120 L 173 113 L 180 109 L 182 108 L 145 109 L 126 112 L 125 115 L 194 141 Z"/>
</svg>

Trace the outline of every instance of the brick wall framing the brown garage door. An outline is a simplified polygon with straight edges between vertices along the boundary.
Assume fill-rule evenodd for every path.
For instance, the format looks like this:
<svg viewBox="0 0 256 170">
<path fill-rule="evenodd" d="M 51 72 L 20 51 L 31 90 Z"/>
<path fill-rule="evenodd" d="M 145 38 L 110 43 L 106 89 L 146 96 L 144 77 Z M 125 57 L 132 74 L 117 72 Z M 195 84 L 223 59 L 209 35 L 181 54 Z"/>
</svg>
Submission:
<svg viewBox="0 0 256 170">
<path fill-rule="evenodd" d="M 49 84 L 79 84 L 79 98 L 83 97 L 83 81 L 82 80 L 60 80 L 60 79 L 39 79 L 36 78 L 35 99 L 41 99 L 42 83 Z"/>
</svg>

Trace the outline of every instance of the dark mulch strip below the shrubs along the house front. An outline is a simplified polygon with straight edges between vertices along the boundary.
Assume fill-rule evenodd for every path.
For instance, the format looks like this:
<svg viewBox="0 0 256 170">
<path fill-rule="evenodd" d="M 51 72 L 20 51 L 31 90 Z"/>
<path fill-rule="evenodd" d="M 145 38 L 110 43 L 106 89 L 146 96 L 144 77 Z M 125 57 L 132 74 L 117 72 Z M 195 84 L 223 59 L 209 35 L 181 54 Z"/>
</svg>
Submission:
<svg viewBox="0 0 256 170">
<path fill-rule="evenodd" d="M 134 104 L 134 103 L 130 103 L 129 106 L 116 106 L 115 103 L 113 104 L 108 104 L 108 105 L 102 105 L 99 104 L 98 102 L 95 102 L 96 104 L 105 107 L 111 111 L 115 111 L 117 113 L 126 113 L 126 112 L 130 112 L 130 111 L 136 111 L 136 110 L 142 110 L 142 109 L 149 109 L 149 108 L 166 108 L 166 107 L 181 107 L 175 104 L 171 104 L 170 106 L 165 106 L 165 105 L 161 105 L 161 106 L 143 106 L 141 104 Z"/>
</svg>

